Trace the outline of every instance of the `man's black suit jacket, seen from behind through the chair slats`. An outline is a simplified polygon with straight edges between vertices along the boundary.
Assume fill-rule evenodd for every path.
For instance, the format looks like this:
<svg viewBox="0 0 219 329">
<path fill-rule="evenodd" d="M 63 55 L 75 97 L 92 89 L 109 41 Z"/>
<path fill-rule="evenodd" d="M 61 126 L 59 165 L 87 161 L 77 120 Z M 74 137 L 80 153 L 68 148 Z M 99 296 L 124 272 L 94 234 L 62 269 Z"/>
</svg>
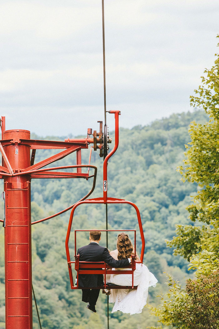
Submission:
<svg viewBox="0 0 219 329">
<path fill-rule="evenodd" d="M 77 250 L 80 255 L 79 261 L 83 262 L 105 262 L 112 267 L 123 267 L 129 265 L 128 259 L 115 260 L 110 256 L 107 248 L 100 246 L 95 242 L 81 247 Z M 103 285 L 102 274 L 80 274 L 78 285 L 81 287 L 98 287 Z"/>
</svg>

